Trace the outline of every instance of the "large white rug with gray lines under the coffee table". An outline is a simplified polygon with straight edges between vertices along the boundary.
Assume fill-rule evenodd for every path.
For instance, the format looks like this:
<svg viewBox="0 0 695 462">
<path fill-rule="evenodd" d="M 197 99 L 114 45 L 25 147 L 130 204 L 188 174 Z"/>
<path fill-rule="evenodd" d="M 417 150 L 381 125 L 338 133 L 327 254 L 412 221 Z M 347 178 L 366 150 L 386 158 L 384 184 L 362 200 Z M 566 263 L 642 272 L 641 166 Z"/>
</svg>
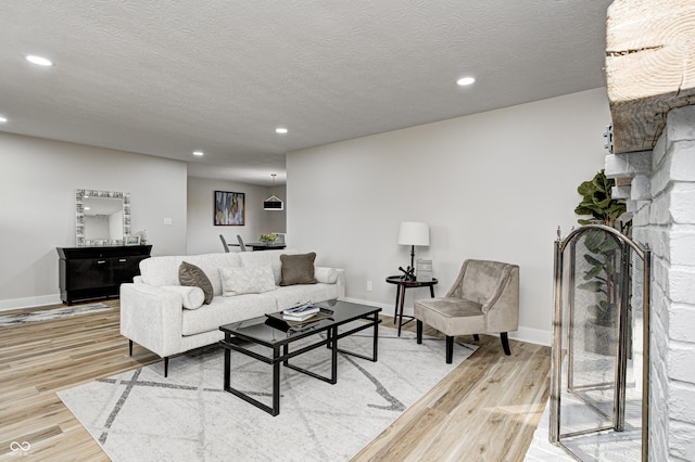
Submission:
<svg viewBox="0 0 695 462">
<path fill-rule="evenodd" d="M 292 350 L 298 349 L 293 344 Z M 339 347 L 371 354 L 371 330 Z M 339 354 L 338 383 L 281 368 L 280 414 L 226 393 L 218 346 L 174 357 L 169 376 L 152 364 L 58 395 L 114 461 L 349 460 L 477 347 L 379 326 L 378 361 Z M 270 403 L 271 367 L 232 351 L 231 385 Z M 291 360 L 330 375 L 330 351 Z"/>
</svg>

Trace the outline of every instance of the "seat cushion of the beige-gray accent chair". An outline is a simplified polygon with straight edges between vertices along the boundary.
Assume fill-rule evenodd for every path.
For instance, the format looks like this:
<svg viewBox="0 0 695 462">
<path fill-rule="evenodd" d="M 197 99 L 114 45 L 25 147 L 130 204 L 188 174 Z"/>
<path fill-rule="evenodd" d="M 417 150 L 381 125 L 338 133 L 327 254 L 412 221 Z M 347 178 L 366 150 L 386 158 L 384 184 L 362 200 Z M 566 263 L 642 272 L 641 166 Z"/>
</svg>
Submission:
<svg viewBox="0 0 695 462">
<path fill-rule="evenodd" d="M 465 298 L 426 298 L 415 301 L 415 318 L 445 335 L 485 332 L 482 305 Z"/>
</svg>

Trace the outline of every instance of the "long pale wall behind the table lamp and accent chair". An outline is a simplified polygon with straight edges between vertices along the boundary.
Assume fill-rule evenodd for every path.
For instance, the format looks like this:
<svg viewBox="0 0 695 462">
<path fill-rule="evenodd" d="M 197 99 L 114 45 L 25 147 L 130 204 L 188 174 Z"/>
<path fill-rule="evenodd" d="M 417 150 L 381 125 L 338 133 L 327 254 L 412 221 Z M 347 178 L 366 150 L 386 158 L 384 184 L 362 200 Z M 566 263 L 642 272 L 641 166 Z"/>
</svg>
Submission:
<svg viewBox="0 0 695 462">
<path fill-rule="evenodd" d="M 577 187 L 603 168 L 609 123 L 595 89 L 289 153 L 292 247 L 344 268 L 349 298 L 392 312 L 384 278 L 409 262 L 399 224 L 426 221 L 431 245 L 416 258 L 433 260 L 438 295 L 466 258 L 518 264 L 516 337 L 549 344 L 553 242 L 577 223 Z"/>
</svg>

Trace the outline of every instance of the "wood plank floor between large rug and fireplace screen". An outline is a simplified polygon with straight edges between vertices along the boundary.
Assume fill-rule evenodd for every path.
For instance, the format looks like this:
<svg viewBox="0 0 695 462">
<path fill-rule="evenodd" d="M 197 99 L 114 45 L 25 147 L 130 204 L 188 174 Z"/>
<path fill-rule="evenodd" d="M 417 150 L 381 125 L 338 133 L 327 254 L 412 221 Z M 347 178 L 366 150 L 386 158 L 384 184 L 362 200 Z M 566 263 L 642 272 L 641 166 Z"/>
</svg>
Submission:
<svg viewBox="0 0 695 462">
<path fill-rule="evenodd" d="M 353 461 L 523 460 L 548 399 L 551 348 L 510 339 L 505 356 L 498 337 L 457 341 L 479 348 Z"/>
</svg>

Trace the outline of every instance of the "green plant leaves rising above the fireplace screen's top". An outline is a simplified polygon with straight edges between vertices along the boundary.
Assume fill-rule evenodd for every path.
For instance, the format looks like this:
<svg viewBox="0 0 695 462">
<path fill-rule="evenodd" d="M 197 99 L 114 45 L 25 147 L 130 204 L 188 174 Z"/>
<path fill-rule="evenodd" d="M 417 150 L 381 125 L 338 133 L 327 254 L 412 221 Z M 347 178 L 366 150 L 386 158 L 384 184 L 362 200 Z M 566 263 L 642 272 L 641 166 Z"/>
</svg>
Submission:
<svg viewBox="0 0 695 462">
<path fill-rule="evenodd" d="M 574 214 L 592 217 L 592 219 L 579 219 L 580 224 L 591 224 L 594 220 L 601 220 L 603 224 L 615 228 L 616 220 L 626 213 L 624 200 L 611 197 L 615 185 L 616 181 L 612 178 L 606 178 L 604 170 L 601 170 L 594 178 L 577 188 L 577 192 L 582 195 L 582 202 L 574 208 Z"/>
</svg>

